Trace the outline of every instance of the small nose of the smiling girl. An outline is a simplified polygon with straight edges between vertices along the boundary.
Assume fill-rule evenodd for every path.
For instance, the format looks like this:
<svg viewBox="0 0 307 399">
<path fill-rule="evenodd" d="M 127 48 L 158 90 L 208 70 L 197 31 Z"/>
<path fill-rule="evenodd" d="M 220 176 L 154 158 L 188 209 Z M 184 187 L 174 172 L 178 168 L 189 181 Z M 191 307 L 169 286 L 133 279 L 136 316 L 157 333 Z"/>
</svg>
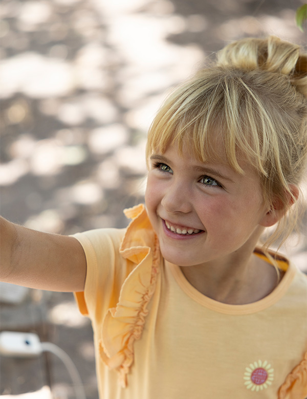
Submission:
<svg viewBox="0 0 307 399">
<path fill-rule="evenodd" d="M 192 205 L 188 185 L 174 179 L 165 190 L 161 205 L 168 213 L 189 213 Z"/>
</svg>

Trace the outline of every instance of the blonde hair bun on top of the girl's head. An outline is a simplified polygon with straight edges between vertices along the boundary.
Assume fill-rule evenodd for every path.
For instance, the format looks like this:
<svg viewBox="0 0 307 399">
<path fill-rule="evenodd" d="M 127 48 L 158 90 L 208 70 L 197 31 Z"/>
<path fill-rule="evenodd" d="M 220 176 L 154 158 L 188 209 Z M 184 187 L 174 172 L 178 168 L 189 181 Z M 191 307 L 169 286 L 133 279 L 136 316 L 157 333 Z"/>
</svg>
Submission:
<svg viewBox="0 0 307 399">
<path fill-rule="evenodd" d="M 218 52 L 216 64 L 222 68 L 260 69 L 287 75 L 296 90 L 307 97 L 307 55 L 300 54 L 300 50 L 300 46 L 275 36 L 245 38 Z"/>
</svg>

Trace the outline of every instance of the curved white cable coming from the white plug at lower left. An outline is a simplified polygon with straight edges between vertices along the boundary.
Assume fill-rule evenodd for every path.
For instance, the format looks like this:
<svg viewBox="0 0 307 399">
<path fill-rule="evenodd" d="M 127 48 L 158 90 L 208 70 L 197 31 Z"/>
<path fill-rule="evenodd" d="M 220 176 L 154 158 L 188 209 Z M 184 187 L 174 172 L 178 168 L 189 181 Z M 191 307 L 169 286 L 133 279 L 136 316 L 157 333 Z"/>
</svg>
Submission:
<svg viewBox="0 0 307 399">
<path fill-rule="evenodd" d="M 67 367 L 67 370 L 74 384 L 76 399 L 86 399 L 80 374 L 78 373 L 76 366 L 74 365 L 68 354 L 63 349 L 59 348 L 57 345 L 51 342 L 41 342 L 41 348 L 44 352 L 51 352 L 55 354 L 55 356 L 57 356 Z"/>
</svg>

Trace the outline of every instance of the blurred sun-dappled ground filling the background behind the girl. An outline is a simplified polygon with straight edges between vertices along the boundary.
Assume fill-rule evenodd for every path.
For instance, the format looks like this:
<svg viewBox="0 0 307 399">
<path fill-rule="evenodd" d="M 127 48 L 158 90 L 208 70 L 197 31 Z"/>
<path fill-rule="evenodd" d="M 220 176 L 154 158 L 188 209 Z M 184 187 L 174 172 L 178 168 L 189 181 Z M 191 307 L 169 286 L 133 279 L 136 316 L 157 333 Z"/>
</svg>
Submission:
<svg viewBox="0 0 307 399">
<path fill-rule="evenodd" d="M 169 88 L 234 39 L 273 34 L 305 46 L 295 24 L 302 4 L 2 0 L 2 215 L 61 234 L 125 227 L 122 210 L 143 201 L 147 129 Z M 295 234 L 285 251 L 307 269 L 305 237 Z M 73 294 L 0 288 L 1 330 L 34 331 L 63 348 L 87 399 L 98 399 L 92 328 Z M 52 354 L 2 357 L 0 373 L 1 395 L 48 385 L 54 397 L 75 397 Z"/>
</svg>

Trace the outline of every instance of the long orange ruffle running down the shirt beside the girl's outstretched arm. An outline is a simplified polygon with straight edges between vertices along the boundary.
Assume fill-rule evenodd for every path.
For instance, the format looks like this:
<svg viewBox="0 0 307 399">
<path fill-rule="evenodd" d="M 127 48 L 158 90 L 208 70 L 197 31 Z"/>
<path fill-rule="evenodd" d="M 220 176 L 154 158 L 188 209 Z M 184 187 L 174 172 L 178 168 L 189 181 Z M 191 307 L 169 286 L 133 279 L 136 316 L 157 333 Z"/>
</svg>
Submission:
<svg viewBox="0 0 307 399">
<path fill-rule="evenodd" d="M 127 386 L 127 373 L 134 362 L 134 342 L 142 335 L 160 264 L 158 238 L 144 205 L 124 212 L 133 220 L 122 240 L 120 254 L 136 267 L 124 281 L 116 307 L 108 309 L 104 317 L 99 342 L 103 362 L 117 370 L 123 388 Z"/>
</svg>

